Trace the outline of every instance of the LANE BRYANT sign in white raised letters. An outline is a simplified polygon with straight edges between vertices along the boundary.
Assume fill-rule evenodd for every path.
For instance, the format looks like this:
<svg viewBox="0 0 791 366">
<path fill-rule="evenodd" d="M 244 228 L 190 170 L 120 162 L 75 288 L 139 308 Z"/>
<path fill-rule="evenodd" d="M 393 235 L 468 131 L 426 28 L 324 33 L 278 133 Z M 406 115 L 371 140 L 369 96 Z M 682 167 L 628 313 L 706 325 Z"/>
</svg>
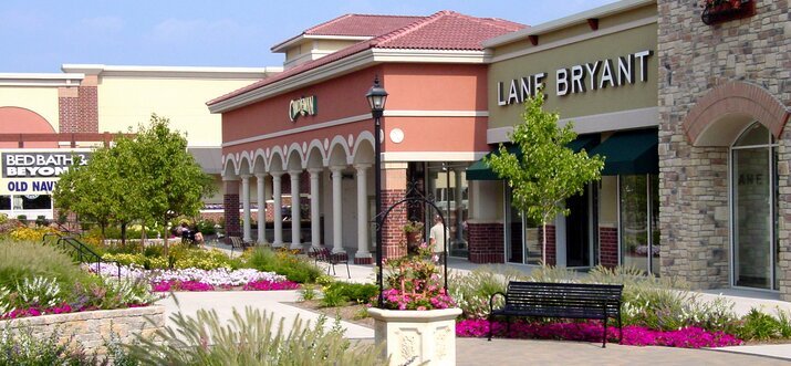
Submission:
<svg viewBox="0 0 791 366">
<path fill-rule="evenodd" d="M 561 67 L 555 70 L 555 83 L 552 91 L 555 96 L 570 96 L 607 87 L 621 87 L 648 81 L 648 57 L 651 50 L 629 53 L 615 59 Z M 521 104 L 528 97 L 547 90 L 547 73 L 513 79 L 497 83 L 497 104 Z M 552 94 L 552 93 L 551 93 Z"/>
</svg>

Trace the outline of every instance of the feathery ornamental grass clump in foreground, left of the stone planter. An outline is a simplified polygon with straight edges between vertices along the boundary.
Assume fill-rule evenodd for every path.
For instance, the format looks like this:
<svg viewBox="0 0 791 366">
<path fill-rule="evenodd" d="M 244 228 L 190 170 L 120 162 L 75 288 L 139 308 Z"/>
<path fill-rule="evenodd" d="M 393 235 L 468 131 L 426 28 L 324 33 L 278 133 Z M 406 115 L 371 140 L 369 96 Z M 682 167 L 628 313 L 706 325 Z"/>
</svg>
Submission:
<svg viewBox="0 0 791 366">
<path fill-rule="evenodd" d="M 283 320 L 247 307 L 236 310 L 228 324 L 215 311 L 199 310 L 196 317 L 178 312 L 170 316 L 174 327 L 154 337 L 139 337 L 128 346 L 143 365 L 379 365 L 381 348 L 353 346 L 337 327 L 324 330 L 324 317 L 315 326 L 294 320 L 290 332 Z"/>
</svg>

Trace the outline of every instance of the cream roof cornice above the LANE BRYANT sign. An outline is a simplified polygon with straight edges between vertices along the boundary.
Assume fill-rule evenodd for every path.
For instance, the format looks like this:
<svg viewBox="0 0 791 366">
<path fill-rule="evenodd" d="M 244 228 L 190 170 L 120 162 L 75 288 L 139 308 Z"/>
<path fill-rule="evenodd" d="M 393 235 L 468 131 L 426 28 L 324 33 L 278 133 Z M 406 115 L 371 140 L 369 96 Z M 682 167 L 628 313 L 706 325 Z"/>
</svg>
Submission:
<svg viewBox="0 0 791 366">
<path fill-rule="evenodd" d="M 576 14 L 572 14 L 565 18 L 525 28 L 520 31 L 498 35 L 496 38 L 483 41 L 482 44 L 485 48 L 497 48 L 499 45 L 525 40 L 530 35 L 545 34 L 552 31 L 569 28 L 571 25 L 586 23 L 589 19 L 610 17 L 613 14 L 629 11 L 632 9 L 642 8 L 652 3 L 656 3 L 656 0 L 622 0 L 583 12 L 579 12 Z"/>
</svg>

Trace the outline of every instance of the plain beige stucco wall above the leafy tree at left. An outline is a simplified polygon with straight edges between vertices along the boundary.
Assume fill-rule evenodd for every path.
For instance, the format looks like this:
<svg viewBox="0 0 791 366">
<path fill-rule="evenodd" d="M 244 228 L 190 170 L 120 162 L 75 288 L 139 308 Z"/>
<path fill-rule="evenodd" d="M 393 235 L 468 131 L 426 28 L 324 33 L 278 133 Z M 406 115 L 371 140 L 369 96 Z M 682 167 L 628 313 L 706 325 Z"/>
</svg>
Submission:
<svg viewBox="0 0 791 366">
<path fill-rule="evenodd" d="M 98 84 L 100 130 L 125 132 L 147 124 L 152 113 L 170 119 L 170 127 L 187 133 L 189 146 L 219 146 L 219 114 L 206 102 L 257 80 L 103 76 Z"/>
</svg>

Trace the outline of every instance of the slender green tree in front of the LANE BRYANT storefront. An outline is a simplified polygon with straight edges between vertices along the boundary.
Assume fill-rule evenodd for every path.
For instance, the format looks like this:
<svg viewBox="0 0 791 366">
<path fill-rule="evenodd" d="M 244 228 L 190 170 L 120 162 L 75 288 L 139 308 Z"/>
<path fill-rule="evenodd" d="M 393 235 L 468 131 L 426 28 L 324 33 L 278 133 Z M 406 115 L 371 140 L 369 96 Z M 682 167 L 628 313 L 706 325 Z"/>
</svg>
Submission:
<svg viewBox="0 0 791 366">
<path fill-rule="evenodd" d="M 489 155 L 485 163 L 508 181 L 512 206 L 541 222 L 541 259 L 545 263 L 547 222 L 559 213 L 569 215 L 563 201 L 582 192 L 587 182 L 601 179 L 604 159 L 587 156 L 584 149 L 575 154 L 566 147 L 576 138 L 573 123 L 559 127 L 558 114 L 543 111 L 543 97 L 525 101 L 522 118 L 524 122 L 509 136 L 521 156 L 500 144 L 499 154 Z"/>
</svg>

